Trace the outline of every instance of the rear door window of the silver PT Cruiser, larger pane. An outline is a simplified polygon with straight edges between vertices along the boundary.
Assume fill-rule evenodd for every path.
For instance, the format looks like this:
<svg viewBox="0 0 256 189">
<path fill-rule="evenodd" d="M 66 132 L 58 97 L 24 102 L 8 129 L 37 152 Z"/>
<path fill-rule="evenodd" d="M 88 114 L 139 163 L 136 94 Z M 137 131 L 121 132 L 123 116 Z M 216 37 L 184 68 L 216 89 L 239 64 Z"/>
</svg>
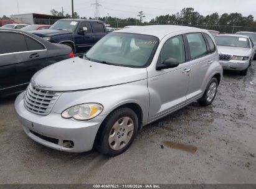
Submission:
<svg viewBox="0 0 256 189">
<path fill-rule="evenodd" d="M 203 57 L 207 55 L 206 42 L 201 33 L 187 34 L 187 41 L 192 59 Z"/>
</svg>

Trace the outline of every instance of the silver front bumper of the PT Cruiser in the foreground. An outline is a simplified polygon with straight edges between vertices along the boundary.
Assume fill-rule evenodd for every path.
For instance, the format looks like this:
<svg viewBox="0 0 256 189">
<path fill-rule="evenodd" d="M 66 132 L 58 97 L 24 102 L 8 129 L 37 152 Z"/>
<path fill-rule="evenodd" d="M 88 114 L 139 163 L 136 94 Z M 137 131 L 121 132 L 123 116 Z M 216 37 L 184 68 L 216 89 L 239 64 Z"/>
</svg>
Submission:
<svg viewBox="0 0 256 189">
<path fill-rule="evenodd" d="M 31 139 L 65 152 L 86 152 L 92 149 L 98 128 L 105 116 L 97 116 L 90 121 L 64 119 L 56 113 L 40 116 L 27 111 L 23 98 L 24 93 L 17 96 L 15 109 L 24 131 Z"/>
</svg>

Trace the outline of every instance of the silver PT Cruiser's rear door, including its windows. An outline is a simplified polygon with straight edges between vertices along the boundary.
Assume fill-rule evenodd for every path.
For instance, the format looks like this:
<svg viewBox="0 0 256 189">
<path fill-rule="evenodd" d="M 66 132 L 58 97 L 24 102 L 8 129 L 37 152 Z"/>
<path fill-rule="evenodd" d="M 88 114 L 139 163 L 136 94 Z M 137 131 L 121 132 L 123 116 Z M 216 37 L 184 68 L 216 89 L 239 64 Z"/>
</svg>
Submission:
<svg viewBox="0 0 256 189">
<path fill-rule="evenodd" d="M 211 37 L 202 33 L 186 34 L 187 48 L 190 52 L 189 62 L 189 87 L 187 89 L 187 101 L 194 101 L 204 93 L 204 83 L 211 64 L 218 61 L 216 47 Z M 209 43 L 209 44 L 208 44 Z"/>
</svg>

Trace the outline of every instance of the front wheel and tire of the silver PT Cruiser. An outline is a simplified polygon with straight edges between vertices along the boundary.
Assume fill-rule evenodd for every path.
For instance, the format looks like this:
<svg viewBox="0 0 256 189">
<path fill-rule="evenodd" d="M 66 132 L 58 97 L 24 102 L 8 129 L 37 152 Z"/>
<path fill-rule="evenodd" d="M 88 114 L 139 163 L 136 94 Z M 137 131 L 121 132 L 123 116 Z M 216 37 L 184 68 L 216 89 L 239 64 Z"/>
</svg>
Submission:
<svg viewBox="0 0 256 189">
<path fill-rule="evenodd" d="M 103 121 L 96 141 L 96 149 L 110 157 L 125 152 L 138 131 L 138 117 L 130 108 L 113 111 Z"/>
</svg>

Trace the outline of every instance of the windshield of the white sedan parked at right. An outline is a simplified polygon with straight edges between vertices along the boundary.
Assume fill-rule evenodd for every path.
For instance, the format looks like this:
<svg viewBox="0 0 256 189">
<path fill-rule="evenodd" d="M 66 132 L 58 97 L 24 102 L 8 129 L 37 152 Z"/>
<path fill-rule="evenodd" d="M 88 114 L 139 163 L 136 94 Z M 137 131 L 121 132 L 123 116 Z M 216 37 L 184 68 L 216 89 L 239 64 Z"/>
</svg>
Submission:
<svg viewBox="0 0 256 189">
<path fill-rule="evenodd" d="M 214 39 L 219 46 L 250 48 L 249 40 L 245 37 L 216 36 Z"/>
</svg>

